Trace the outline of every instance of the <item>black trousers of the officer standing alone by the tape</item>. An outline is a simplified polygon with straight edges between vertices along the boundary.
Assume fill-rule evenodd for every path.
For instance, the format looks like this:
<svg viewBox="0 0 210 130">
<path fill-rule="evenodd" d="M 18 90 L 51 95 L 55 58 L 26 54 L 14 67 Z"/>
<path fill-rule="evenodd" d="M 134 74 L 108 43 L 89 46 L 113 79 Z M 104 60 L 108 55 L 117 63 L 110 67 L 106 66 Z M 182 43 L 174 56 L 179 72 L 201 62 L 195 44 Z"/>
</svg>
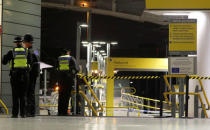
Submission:
<svg viewBox="0 0 210 130">
<path fill-rule="evenodd" d="M 69 72 L 59 72 L 58 115 L 67 115 L 74 78 Z"/>
</svg>

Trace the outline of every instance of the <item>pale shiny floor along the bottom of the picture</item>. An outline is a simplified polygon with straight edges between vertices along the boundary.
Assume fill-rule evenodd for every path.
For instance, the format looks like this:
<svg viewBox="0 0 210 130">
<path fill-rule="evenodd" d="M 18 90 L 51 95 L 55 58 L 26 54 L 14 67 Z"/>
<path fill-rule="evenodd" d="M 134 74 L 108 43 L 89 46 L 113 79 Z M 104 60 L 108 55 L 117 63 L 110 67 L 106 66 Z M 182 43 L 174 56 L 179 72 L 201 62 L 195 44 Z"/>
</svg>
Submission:
<svg viewBox="0 0 210 130">
<path fill-rule="evenodd" d="M 209 130 L 209 119 L 0 117 L 0 130 Z"/>
</svg>

